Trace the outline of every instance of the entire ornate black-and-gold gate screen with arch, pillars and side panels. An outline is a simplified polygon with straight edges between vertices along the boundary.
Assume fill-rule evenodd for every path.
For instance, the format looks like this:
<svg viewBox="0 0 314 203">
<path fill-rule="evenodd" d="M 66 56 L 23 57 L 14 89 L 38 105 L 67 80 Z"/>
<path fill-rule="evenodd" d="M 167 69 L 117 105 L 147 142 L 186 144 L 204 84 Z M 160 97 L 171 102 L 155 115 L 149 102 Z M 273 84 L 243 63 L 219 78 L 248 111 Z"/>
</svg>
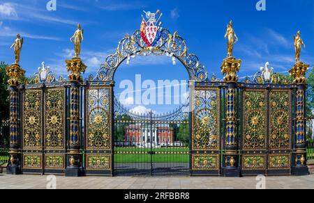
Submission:
<svg viewBox="0 0 314 203">
<path fill-rule="evenodd" d="M 148 22 L 158 13 L 147 13 Z M 309 65 L 299 61 L 301 50 L 297 49 L 297 61 L 290 70 L 292 81 L 281 79 L 268 65 L 253 80 L 239 81 L 241 60 L 232 56 L 237 38 L 230 22 L 228 56 L 221 65 L 225 77 L 220 80 L 208 76 L 177 32 L 171 34 L 162 29 L 159 19 L 156 22 L 149 28 L 143 19 L 141 29 L 126 35 L 96 76 L 87 79 L 81 76 L 87 66 L 80 58 L 80 26 L 73 37 L 75 57 L 66 60 L 68 81 L 57 79 L 43 65 L 23 84 L 20 56 L 15 57 L 16 62 L 7 67 L 8 173 L 113 175 L 114 74 L 135 55 L 165 55 L 173 62 L 179 60 L 189 75 L 191 175 L 308 174 L 304 115 Z M 295 38 L 300 38 L 299 33 Z"/>
</svg>

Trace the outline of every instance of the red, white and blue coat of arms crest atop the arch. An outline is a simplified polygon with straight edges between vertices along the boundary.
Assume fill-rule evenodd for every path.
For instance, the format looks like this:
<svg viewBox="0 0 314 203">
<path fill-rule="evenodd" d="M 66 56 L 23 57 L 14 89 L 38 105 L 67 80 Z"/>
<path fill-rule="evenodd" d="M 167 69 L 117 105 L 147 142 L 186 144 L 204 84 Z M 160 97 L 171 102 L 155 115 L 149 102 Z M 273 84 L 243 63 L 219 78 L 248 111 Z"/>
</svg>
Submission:
<svg viewBox="0 0 314 203">
<path fill-rule="evenodd" d="M 147 47 L 156 47 L 158 40 L 160 40 L 160 30 L 162 26 L 162 22 L 160 22 L 160 18 L 163 16 L 159 10 L 156 13 L 145 12 L 147 20 L 142 16 L 142 24 L 141 24 L 141 37 L 142 40 L 147 44 Z M 156 15 L 160 14 L 159 18 L 156 19 Z"/>
</svg>

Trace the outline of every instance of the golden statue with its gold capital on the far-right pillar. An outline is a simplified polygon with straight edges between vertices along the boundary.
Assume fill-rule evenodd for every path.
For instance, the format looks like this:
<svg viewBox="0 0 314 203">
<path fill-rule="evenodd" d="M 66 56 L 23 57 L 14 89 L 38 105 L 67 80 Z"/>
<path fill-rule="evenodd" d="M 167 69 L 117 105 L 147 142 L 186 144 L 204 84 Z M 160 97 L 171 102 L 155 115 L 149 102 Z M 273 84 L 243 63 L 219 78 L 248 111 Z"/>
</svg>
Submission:
<svg viewBox="0 0 314 203">
<path fill-rule="evenodd" d="M 306 72 L 308 71 L 308 67 L 310 65 L 301 62 L 300 60 L 300 54 L 301 54 L 301 48 L 302 45 L 304 48 L 306 45 L 304 44 L 301 36 L 300 31 L 297 32 L 297 35 L 294 35 L 294 48 L 295 48 L 295 64 L 294 67 L 289 71 L 290 75 L 294 77 L 294 83 L 295 84 L 305 84 L 306 83 Z"/>
</svg>

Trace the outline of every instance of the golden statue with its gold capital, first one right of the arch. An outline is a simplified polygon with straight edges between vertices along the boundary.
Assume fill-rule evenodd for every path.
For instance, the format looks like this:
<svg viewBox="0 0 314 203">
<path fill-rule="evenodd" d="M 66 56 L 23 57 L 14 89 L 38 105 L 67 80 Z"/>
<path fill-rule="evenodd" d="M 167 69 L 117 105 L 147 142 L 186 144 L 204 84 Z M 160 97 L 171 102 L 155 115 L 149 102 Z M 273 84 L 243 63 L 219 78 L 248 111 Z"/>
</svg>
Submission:
<svg viewBox="0 0 314 203">
<path fill-rule="evenodd" d="M 236 59 L 232 56 L 234 44 L 239 40 L 232 28 L 232 20 L 230 20 L 230 23 L 227 25 L 225 38 L 227 38 L 228 40 L 228 56 L 223 60 L 223 65 L 221 65 L 221 72 L 225 74 L 225 77 L 223 78 L 225 82 L 237 83 L 237 81 L 239 80 L 237 72 L 239 72 L 240 70 L 241 60 Z"/>
</svg>

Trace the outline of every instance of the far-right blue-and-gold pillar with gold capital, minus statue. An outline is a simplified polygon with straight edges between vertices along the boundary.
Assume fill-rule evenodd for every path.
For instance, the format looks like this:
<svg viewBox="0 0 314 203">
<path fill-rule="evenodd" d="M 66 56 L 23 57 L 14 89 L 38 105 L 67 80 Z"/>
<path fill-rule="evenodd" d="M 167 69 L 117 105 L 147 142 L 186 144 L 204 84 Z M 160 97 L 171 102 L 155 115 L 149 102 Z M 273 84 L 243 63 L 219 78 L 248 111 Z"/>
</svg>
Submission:
<svg viewBox="0 0 314 203">
<path fill-rule="evenodd" d="M 305 74 L 310 65 L 297 62 L 290 74 L 294 77 L 294 84 L 297 86 L 294 104 L 294 143 L 292 154 L 292 174 L 306 175 L 308 167 L 306 166 L 306 108 L 305 108 L 305 91 L 306 77 Z"/>
</svg>

